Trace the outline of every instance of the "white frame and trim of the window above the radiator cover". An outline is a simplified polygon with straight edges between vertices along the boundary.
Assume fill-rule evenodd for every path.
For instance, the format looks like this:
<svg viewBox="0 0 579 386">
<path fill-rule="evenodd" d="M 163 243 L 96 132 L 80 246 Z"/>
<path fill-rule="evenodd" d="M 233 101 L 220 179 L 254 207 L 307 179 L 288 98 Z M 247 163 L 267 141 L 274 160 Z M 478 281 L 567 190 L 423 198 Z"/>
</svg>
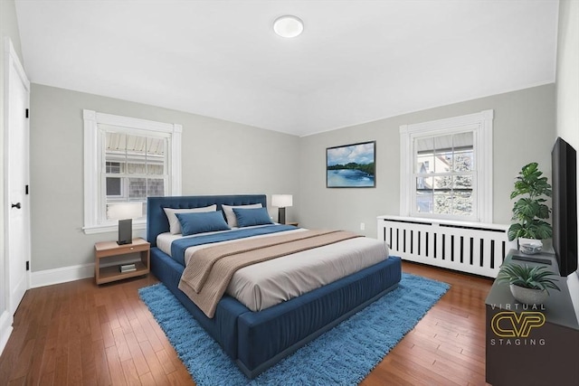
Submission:
<svg viewBox="0 0 579 386">
<path fill-rule="evenodd" d="M 400 127 L 400 215 L 427 217 L 462 222 L 492 223 L 492 109 L 479 113 L 444 118 Z M 414 140 L 421 137 L 439 137 L 464 132 L 473 134 L 473 215 L 469 217 L 448 214 L 416 212 L 416 182 L 414 181 Z"/>
</svg>

